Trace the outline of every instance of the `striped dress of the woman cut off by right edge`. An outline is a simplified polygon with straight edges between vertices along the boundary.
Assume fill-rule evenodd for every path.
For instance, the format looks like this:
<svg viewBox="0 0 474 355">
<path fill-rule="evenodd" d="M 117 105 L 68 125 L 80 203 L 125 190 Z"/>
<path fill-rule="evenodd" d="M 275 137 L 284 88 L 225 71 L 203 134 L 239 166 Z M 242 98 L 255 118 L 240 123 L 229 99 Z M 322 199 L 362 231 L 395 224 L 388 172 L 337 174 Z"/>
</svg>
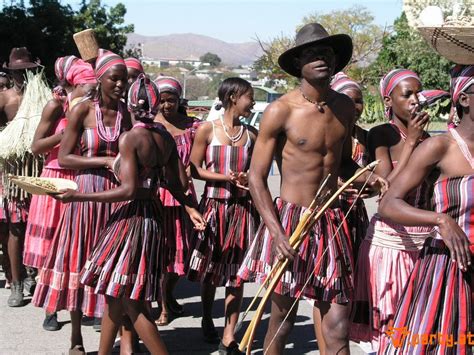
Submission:
<svg viewBox="0 0 474 355">
<path fill-rule="evenodd" d="M 467 148 L 455 130 L 450 132 L 460 147 Z M 461 148 L 461 151 L 474 169 L 469 150 Z M 436 181 L 431 202 L 434 211 L 447 214 L 458 223 L 469 238 L 474 257 L 474 173 Z M 473 301 L 474 267 L 471 265 L 462 272 L 452 262 L 449 249 L 437 233 L 425 244 L 395 315 L 394 328 L 406 327 L 410 333 L 403 337 L 395 331 L 384 353 L 472 354 L 472 345 L 467 345 L 466 337 L 468 332 L 474 334 Z M 416 345 L 412 341 L 414 334 L 442 334 L 445 338 Z M 457 344 L 449 346 L 447 336 Z"/>
</svg>

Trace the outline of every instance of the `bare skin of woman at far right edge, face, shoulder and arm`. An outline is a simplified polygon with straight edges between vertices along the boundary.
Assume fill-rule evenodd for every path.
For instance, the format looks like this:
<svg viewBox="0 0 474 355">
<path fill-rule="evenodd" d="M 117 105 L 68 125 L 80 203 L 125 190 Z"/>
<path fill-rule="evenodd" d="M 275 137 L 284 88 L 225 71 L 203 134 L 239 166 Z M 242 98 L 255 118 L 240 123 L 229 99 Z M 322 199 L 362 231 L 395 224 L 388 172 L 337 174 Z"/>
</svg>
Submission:
<svg viewBox="0 0 474 355">
<path fill-rule="evenodd" d="M 471 85 L 462 93 L 459 104 L 463 117 L 456 131 L 474 153 L 474 89 Z M 383 217 L 407 226 L 433 226 L 439 228 L 444 243 L 449 248 L 453 262 L 466 272 L 472 268 L 469 239 L 450 216 L 410 206 L 404 201 L 407 194 L 431 173 L 439 174 L 439 180 L 472 175 L 472 167 L 462 155 L 458 144 L 450 133 L 432 137 L 423 142 L 413 153 L 406 168 L 394 180 L 379 205 Z"/>
</svg>

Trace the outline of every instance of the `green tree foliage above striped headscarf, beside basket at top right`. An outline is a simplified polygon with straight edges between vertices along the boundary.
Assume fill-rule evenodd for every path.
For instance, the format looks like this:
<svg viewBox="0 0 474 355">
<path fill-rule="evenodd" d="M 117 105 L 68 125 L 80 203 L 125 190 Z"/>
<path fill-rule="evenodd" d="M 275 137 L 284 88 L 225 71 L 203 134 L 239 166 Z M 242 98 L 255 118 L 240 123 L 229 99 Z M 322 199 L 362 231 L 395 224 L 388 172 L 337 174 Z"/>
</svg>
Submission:
<svg viewBox="0 0 474 355">
<path fill-rule="evenodd" d="M 439 56 L 429 44 L 408 26 L 404 13 L 395 20 L 394 31 L 383 39 L 382 49 L 370 67 L 370 82 L 395 68 L 411 69 L 420 75 L 424 89 L 449 89 L 449 69 L 453 64 Z"/>
</svg>

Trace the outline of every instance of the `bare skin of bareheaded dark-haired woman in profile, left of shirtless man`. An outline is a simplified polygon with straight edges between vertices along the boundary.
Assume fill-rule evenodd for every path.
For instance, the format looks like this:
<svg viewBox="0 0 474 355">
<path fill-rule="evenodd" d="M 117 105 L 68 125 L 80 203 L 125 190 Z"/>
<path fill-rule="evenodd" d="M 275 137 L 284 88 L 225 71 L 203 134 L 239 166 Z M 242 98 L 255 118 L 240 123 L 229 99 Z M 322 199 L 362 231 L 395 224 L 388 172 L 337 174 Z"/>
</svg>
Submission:
<svg viewBox="0 0 474 355">
<path fill-rule="evenodd" d="M 231 103 L 225 108 L 223 122 L 228 129 L 229 135 L 237 134 L 242 126 L 240 117 L 249 117 L 255 101 L 253 99 L 253 89 L 249 88 L 241 96 L 231 95 Z M 215 134 L 221 144 L 243 146 L 247 143 L 247 134 L 243 132 L 239 141 L 232 143 L 232 141 L 225 135 L 224 128 L 220 120 L 215 121 Z M 250 126 L 250 139 L 252 142 L 257 137 L 257 131 Z M 221 181 L 230 182 L 242 189 L 248 189 L 247 172 L 231 172 L 229 175 L 214 173 L 202 167 L 207 146 L 211 143 L 213 138 L 213 128 L 211 122 L 203 123 L 196 131 L 194 145 L 191 151 L 191 170 L 193 177 L 205 181 Z M 203 303 L 203 326 L 205 328 L 214 328 L 212 320 L 212 305 L 214 304 L 216 287 L 212 284 L 204 283 L 201 285 L 201 299 Z M 222 343 L 228 346 L 235 341 L 234 331 L 235 326 L 239 320 L 239 312 L 242 304 L 243 285 L 240 287 L 226 287 L 225 296 L 225 326 L 224 334 L 222 336 Z"/>
</svg>

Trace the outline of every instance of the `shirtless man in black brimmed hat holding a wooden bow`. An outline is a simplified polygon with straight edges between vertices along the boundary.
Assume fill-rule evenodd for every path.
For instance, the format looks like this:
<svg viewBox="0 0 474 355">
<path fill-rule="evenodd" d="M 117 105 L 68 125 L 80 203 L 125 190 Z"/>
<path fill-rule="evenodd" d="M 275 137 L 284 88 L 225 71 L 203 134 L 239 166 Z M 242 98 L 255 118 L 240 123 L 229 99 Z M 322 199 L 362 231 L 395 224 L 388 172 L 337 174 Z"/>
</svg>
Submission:
<svg viewBox="0 0 474 355">
<path fill-rule="evenodd" d="M 344 223 L 340 208 L 335 205 L 326 212 L 298 252 L 290 247 L 288 236 L 328 174 L 327 186 L 335 191 L 338 176 L 347 179 L 359 168 L 351 158 L 354 103 L 329 86 L 332 75 L 344 68 L 351 55 L 349 36 L 330 36 L 316 23 L 304 26 L 296 35 L 295 47 L 279 58 L 283 70 L 302 78 L 301 86 L 270 104 L 260 124 L 253 153 L 258 159 L 252 160 L 249 186 L 265 226 L 247 252 L 239 276 L 263 282 L 277 258 L 293 261 L 272 295 L 264 343 L 269 354 L 283 352 L 297 307 L 283 321 L 309 278 L 303 295 L 315 300 L 320 350 L 325 344 L 323 353 L 349 353 L 353 261 L 348 229 L 334 235 Z M 276 208 L 267 185 L 274 154 L 281 173 Z M 373 176 L 370 184 L 380 187 L 385 181 Z M 324 257 L 317 258 L 325 251 Z"/>
</svg>

